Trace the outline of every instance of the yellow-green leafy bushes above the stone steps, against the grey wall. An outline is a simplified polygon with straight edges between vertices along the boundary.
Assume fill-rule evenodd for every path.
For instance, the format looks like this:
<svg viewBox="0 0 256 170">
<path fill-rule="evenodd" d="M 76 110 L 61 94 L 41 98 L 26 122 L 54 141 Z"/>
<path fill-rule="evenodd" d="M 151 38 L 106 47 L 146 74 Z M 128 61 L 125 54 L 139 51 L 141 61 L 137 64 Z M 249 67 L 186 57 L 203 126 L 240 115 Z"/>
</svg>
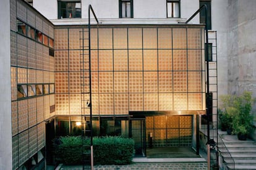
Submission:
<svg viewBox="0 0 256 170">
<path fill-rule="evenodd" d="M 230 118 L 234 134 L 248 134 L 253 123 L 251 111 L 254 99 L 252 92 L 245 91 L 242 95 L 223 95 L 221 101 L 223 113 L 220 120 L 223 119 L 223 115 L 226 115 Z"/>
</svg>

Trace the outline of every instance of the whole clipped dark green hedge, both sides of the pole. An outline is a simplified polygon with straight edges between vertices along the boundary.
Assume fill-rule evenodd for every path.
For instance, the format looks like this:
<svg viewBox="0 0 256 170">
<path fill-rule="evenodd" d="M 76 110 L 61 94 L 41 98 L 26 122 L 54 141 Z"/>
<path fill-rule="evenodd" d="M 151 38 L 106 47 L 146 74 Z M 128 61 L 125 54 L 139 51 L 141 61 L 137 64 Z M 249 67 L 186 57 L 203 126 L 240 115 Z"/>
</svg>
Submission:
<svg viewBox="0 0 256 170">
<path fill-rule="evenodd" d="M 54 153 L 58 163 L 81 164 L 82 138 L 66 136 L 54 139 Z M 133 139 L 112 136 L 93 138 L 94 164 L 130 164 L 133 153 Z"/>
</svg>

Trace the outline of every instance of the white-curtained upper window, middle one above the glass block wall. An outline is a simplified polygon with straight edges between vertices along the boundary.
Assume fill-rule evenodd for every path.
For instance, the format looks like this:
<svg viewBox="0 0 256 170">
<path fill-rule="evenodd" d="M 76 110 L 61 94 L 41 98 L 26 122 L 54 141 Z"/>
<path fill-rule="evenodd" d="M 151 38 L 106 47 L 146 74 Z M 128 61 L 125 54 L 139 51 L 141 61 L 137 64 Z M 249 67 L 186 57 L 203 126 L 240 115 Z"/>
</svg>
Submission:
<svg viewBox="0 0 256 170">
<path fill-rule="evenodd" d="M 133 0 L 119 0 L 119 18 L 133 18 Z"/>
</svg>

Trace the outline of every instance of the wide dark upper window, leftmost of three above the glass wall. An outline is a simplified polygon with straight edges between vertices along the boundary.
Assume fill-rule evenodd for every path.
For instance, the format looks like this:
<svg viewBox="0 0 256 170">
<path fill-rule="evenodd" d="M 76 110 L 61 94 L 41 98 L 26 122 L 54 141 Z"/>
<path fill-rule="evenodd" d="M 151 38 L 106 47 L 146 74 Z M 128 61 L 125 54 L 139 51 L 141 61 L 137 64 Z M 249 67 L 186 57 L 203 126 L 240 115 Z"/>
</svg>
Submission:
<svg viewBox="0 0 256 170">
<path fill-rule="evenodd" d="M 58 18 L 81 18 L 81 2 L 58 1 Z"/>
</svg>

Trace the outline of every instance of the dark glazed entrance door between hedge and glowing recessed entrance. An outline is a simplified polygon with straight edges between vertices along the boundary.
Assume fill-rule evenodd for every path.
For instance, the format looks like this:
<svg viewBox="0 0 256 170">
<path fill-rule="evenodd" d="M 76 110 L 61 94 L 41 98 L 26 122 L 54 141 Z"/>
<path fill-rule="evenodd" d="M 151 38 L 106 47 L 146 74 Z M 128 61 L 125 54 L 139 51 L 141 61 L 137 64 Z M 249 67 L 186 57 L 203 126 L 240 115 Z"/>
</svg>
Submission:
<svg viewBox="0 0 256 170">
<path fill-rule="evenodd" d="M 130 119 L 130 137 L 135 142 L 135 156 L 146 156 L 145 119 Z"/>
</svg>

